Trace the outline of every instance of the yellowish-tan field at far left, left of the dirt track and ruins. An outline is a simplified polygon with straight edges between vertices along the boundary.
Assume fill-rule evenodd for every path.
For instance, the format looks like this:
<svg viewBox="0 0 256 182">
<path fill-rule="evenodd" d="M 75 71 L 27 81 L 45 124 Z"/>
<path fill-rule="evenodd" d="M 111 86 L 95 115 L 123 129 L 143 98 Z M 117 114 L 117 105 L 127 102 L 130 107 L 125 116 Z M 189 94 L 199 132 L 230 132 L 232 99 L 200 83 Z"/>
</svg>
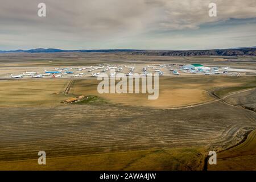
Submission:
<svg viewBox="0 0 256 182">
<path fill-rule="evenodd" d="M 68 80 L 7 80 L 0 83 L 0 107 L 59 105 L 70 97 L 63 94 Z"/>
</svg>

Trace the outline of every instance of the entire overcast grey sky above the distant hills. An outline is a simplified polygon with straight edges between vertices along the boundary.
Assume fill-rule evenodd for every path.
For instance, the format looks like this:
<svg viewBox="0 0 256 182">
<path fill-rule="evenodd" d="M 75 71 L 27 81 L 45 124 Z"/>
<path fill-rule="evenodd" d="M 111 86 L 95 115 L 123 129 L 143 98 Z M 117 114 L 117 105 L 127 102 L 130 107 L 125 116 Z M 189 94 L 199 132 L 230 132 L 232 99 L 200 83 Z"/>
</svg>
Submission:
<svg viewBox="0 0 256 182">
<path fill-rule="evenodd" d="M 38 4 L 46 4 L 46 17 Z M 217 17 L 209 17 L 209 3 Z M 0 49 L 256 46 L 256 0 L 0 0 Z"/>
</svg>

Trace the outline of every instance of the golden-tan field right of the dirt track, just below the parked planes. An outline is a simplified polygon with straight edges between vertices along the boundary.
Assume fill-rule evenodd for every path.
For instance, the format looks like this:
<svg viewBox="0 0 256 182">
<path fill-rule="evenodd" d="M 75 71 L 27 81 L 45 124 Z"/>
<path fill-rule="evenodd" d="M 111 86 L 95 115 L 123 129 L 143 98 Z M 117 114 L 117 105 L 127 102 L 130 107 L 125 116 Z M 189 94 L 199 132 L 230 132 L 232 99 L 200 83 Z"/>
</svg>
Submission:
<svg viewBox="0 0 256 182">
<path fill-rule="evenodd" d="M 76 80 L 70 93 L 105 98 L 113 104 L 148 107 L 180 107 L 213 100 L 207 90 L 248 84 L 255 77 L 172 77 L 159 79 L 159 98 L 148 100 L 148 94 L 99 94 L 94 80 Z M 99 81 L 98 81 L 99 82 Z M 254 83 L 256 86 L 256 82 Z"/>
</svg>

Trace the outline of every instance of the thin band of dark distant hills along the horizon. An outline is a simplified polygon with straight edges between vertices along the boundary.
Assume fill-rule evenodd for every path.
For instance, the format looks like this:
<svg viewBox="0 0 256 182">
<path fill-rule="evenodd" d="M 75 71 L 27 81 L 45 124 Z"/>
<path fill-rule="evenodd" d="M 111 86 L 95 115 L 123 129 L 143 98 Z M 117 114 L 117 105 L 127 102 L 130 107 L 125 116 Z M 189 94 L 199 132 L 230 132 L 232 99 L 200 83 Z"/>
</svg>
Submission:
<svg viewBox="0 0 256 182">
<path fill-rule="evenodd" d="M 139 50 L 139 49 L 79 49 L 79 50 L 63 50 L 54 48 L 37 48 L 29 50 L 14 50 L 0 51 L 0 53 L 54 53 L 54 52 L 130 52 L 133 55 L 155 55 L 155 56 L 241 56 L 252 55 L 256 56 L 256 46 L 241 47 L 230 49 L 211 49 L 211 50 L 189 50 L 189 51 L 174 51 L 174 50 Z"/>
</svg>

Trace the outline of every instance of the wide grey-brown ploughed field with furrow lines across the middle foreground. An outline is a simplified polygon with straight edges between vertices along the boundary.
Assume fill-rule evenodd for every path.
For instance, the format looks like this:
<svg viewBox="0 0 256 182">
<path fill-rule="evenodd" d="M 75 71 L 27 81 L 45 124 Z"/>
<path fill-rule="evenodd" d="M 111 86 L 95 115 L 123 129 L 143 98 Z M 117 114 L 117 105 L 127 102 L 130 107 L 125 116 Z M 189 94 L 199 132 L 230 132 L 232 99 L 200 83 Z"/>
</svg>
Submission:
<svg viewBox="0 0 256 182">
<path fill-rule="evenodd" d="M 1 161 L 36 159 L 40 150 L 56 158 L 216 145 L 232 140 L 242 127 L 254 126 L 256 118 L 251 111 L 221 102 L 171 110 L 112 105 L 3 107 L 0 115 Z"/>
</svg>

